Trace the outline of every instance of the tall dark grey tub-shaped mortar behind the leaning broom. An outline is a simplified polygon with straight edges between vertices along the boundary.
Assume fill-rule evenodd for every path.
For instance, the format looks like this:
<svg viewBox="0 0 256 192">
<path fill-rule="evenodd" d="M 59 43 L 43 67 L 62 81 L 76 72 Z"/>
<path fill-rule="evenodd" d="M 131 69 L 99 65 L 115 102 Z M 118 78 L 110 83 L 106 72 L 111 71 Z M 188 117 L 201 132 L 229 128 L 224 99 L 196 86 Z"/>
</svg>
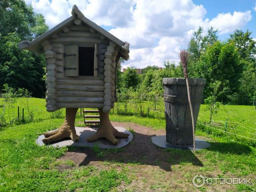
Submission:
<svg viewBox="0 0 256 192">
<path fill-rule="evenodd" d="M 195 124 L 205 85 L 205 79 L 189 78 L 189 90 Z M 193 144 L 192 119 L 185 78 L 163 78 L 166 141 L 173 145 Z"/>
</svg>

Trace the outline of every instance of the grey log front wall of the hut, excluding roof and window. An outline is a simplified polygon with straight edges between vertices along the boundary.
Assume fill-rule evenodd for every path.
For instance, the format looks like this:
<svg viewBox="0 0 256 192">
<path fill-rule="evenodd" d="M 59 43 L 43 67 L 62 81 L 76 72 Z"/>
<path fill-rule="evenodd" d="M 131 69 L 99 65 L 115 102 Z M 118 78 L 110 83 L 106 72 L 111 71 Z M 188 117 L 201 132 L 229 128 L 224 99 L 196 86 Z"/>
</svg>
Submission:
<svg viewBox="0 0 256 192">
<path fill-rule="evenodd" d="M 98 77 L 67 77 L 64 73 L 65 45 L 87 46 L 98 44 Z M 103 108 L 109 112 L 114 103 L 118 53 L 116 44 L 97 33 L 81 20 L 75 19 L 58 34 L 42 44 L 47 58 L 47 111 L 59 108 Z"/>
</svg>

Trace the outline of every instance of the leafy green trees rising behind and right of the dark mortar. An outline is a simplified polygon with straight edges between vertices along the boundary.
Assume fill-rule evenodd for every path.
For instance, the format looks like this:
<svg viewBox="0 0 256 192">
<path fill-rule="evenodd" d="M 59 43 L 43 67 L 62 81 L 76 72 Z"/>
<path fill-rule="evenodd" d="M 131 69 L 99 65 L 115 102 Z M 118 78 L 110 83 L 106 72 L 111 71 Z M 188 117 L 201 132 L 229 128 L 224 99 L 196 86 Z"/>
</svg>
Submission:
<svg viewBox="0 0 256 192">
<path fill-rule="evenodd" d="M 222 102 L 249 104 L 256 94 L 255 41 L 250 32 L 236 30 L 227 41 L 218 41 L 217 30 L 202 29 L 189 42 L 189 76 L 205 78 L 204 97 L 212 94 L 212 84 L 221 81 L 216 99 Z M 196 56 L 195 56 L 196 55 Z"/>
</svg>

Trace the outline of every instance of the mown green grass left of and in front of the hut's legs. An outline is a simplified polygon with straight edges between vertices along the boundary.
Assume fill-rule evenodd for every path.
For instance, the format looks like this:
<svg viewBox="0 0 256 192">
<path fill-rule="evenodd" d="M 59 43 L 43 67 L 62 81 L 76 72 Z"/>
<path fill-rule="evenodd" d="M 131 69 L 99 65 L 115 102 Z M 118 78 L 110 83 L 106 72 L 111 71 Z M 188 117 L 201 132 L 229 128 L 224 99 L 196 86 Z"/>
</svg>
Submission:
<svg viewBox="0 0 256 192">
<path fill-rule="evenodd" d="M 80 187 L 82 191 L 108 191 L 121 181 L 128 182 L 127 174 L 115 169 L 98 172 L 87 166 L 75 171 L 56 170 L 53 165 L 67 148 L 41 147 L 35 144 L 35 139 L 44 131 L 58 127 L 62 121 L 50 119 L 0 131 L 0 191 L 55 192 Z M 64 163 L 75 166 L 70 160 Z"/>
</svg>

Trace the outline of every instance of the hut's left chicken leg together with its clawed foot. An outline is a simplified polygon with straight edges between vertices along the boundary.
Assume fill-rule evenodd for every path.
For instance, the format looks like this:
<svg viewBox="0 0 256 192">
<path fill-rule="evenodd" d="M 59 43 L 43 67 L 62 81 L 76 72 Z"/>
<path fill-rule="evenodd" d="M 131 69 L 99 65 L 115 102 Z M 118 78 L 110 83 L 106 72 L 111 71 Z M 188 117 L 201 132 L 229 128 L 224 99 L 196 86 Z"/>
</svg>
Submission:
<svg viewBox="0 0 256 192">
<path fill-rule="evenodd" d="M 75 119 L 76 112 L 78 108 L 66 108 L 65 121 L 60 128 L 54 131 L 49 131 L 44 133 L 44 138 L 42 141 L 44 143 L 52 143 L 64 138 L 71 138 L 73 141 L 78 140 L 78 135 L 75 129 Z"/>
</svg>

